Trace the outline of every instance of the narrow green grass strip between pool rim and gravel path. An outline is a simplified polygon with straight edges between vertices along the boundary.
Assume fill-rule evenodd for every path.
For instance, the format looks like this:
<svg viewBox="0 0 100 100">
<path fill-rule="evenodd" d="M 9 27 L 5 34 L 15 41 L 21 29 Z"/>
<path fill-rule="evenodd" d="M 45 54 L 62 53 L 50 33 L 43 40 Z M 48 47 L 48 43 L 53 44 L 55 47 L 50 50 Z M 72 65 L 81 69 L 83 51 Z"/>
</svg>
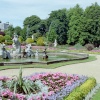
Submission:
<svg viewBox="0 0 100 100">
<path fill-rule="evenodd" d="M 0 70 L 6 70 L 6 69 L 16 69 L 16 68 L 46 68 L 46 69 L 54 69 L 57 67 L 61 67 L 64 65 L 70 65 L 70 64 L 77 64 L 77 63 L 85 63 L 96 60 L 95 56 L 89 56 L 88 59 L 84 60 L 74 60 L 74 61 L 68 61 L 68 62 L 60 62 L 60 63 L 54 63 L 54 64 L 30 64 L 30 65 L 11 65 L 11 66 L 0 66 Z"/>
</svg>

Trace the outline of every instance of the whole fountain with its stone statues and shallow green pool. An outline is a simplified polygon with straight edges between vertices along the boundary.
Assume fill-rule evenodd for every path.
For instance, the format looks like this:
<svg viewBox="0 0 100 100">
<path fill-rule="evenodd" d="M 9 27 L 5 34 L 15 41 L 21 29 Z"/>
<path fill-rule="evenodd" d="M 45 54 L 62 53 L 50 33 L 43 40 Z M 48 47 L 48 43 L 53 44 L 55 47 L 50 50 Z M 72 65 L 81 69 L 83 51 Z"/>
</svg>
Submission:
<svg viewBox="0 0 100 100">
<path fill-rule="evenodd" d="M 56 40 L 55 40 L 56 41 Z M 55 45 L 57 42 L 55 42 Z M 42 63 L 51 64 L 62 61 L 70 61 L 77 59 L 88 58 L 88 55 L 84 54 L 73 54 L 73 53 L 47 53 L 47 48 L 43 52 L 38 52 L 38 49 L 34 53 L 31 44 L 27 44 L 26 47 L 21 51 L 21 44 L 18 40 L 18 35 L 14 34 L 13 38 L 13 49 L 10 51 L 6 50 L 5 44 L 0 46 L 0 66 L 11 65 L 11 64 L 32 64 L 32 63 Z M 16 59 L 14 59 L 16 58 Z M 18 59 L 20 58 L 20 59 Z M 6 60 L 7 59 L 7 60 Z"/>
</svg>

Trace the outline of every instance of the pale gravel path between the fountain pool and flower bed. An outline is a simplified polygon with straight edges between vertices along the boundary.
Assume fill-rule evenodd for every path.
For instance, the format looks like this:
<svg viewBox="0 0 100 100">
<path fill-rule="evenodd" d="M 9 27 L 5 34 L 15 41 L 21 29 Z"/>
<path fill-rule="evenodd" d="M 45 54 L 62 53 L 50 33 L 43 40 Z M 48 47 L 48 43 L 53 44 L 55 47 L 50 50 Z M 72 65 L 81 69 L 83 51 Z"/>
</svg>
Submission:
<svg viewBox="0 0 100 100">
<path fill-rule="evenodd" d="M 62 72 L 95 77 L 97 82 L 100 83 L 100 55 L 96 55 L 96 57 L 97 60 L 92 62 L 66 65 L 56 69 L 25 68 L 23 69 L 23 75 L 30 75 L 34 72 Z M 8 69 L 0 71 L 0 76 L 18 75 L 18 73 L 19 69 Z"/>
</svg>

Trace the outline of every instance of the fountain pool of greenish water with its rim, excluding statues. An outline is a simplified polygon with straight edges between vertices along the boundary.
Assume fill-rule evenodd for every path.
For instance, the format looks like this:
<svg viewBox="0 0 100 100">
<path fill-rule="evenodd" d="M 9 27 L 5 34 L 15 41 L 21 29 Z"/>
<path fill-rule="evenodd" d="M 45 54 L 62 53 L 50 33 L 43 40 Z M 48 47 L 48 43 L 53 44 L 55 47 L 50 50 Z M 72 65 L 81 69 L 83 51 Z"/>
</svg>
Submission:
<svg viewBox="0 0 100 100">
<path fill-rule="evenodd" d="M 47 53 L 48 59 L 43 59 L 43 53 L 39 53 L 38 57 L 32 58 L 16 58 L 16 59 L 0 59 L 0 66 L 14 65 L 14 64 L 52 64 L 58 62 L 66 62 L 73 60 L 83 60 L 89 57 L 88 54 L 77 54 L 77 53 Z"/>
</svg>

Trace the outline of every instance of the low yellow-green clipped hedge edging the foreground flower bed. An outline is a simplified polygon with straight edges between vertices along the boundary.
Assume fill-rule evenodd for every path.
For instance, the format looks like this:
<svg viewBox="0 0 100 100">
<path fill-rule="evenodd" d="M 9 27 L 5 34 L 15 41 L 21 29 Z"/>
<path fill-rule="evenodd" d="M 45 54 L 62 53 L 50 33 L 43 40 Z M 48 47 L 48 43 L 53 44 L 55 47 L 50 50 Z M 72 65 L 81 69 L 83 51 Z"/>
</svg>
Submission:
<svg viewBox="0 0 100 100">
<path fill-rule="evenodd" d="M 68 97 L 65 97 L 64 100 L 83 100 L 95 85 L 95 78 L 89 78 L 84 84 L 73 90 Z"/>
</svg>

